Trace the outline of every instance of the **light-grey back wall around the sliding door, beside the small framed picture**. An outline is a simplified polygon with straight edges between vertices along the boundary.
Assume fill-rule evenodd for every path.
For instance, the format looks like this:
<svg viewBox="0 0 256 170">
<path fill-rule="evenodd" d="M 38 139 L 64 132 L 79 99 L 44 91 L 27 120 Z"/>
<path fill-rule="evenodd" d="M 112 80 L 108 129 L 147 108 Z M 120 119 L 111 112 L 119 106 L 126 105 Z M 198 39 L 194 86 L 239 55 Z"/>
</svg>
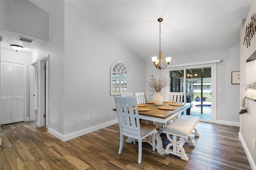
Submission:
<svg viewBox="0 0 256 170">
<path fill-rule="evenodd" d="M 220 59 L 217 63 L 217 89 L 222 87 L 223 92 L 217 91 L 217 123 L 220 124 L 239 124 L 239 85 L 231 84 L 231 72 L 239 71 L 239 47 L 190 53 L 186 55 L 172 56 L 172 65 L 196 63 L 200 61 L 210 61 Z M 150 57 L 146 65 L 146 77 L 149 79 L 151 74 L 160 76 L 160 71 L 155 68 Z M 148 89 L 148 83 L 146 83 Z"/>
</svg>

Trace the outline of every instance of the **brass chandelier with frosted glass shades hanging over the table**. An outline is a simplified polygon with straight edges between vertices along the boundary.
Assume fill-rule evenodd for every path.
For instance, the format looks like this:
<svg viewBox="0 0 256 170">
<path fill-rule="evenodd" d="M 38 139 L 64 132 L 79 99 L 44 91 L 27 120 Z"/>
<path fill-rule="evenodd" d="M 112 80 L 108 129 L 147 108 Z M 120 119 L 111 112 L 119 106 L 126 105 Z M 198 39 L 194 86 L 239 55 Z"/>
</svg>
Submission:
<svg viewBox="0 0 256 170">
<path fill-rule="evenodd" d="M 154 63 L 154 65 L 156 66 L 157 69 L 163 69 L 166 68 L 167 65 L 170 64 L 172 57 L 166 57 L 166 63 L 164 63 L 164 61 L 162 60 L 162 52 L 161 52 L 161 22 L 163 21 L 163 18 L 158 18 L 158 22 L 159 22 L 159 53 L 158 53 L 158 57 L 154 56 L 151 57 L 152 62 Z M 164 64 L 164 66 L 161 66 L 161 62 Z"/>
</svg>

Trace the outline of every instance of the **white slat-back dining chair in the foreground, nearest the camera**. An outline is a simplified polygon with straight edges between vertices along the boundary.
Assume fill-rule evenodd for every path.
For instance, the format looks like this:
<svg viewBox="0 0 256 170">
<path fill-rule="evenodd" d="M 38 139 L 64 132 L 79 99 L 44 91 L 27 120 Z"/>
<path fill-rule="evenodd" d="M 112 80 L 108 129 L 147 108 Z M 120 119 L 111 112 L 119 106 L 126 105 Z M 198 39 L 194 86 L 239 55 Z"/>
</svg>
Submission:
<svg viewBox="0 0 256 170">
<path fill-rule="evenodd" d="M 138 163 L 142 159 L 142 139 L 152 135 L 152 148 L 156 148 L 156 127 L 140 123 L 136 98 L 114 97 L 120 128 L 118 154 L 122 153 L 124 136 L 138 140 Z M 135 107 L 133 107 L 134 105 Z M 133 108 L 135 111 L 133 111 Z"/>
</svg>

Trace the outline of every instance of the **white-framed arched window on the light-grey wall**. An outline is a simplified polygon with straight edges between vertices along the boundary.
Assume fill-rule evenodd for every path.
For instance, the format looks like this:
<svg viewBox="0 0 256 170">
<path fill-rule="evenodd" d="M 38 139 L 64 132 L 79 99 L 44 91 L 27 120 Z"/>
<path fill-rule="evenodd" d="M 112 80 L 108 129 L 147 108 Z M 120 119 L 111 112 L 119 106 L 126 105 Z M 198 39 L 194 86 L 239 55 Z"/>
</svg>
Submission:
<svg viewBox="0 0 256 170">
<path fill-rule="evenodd" d="M 110 77 L 110 95 L 128 92 L 128 69 L 122 61 L 112 64 Z"/>
</svg>

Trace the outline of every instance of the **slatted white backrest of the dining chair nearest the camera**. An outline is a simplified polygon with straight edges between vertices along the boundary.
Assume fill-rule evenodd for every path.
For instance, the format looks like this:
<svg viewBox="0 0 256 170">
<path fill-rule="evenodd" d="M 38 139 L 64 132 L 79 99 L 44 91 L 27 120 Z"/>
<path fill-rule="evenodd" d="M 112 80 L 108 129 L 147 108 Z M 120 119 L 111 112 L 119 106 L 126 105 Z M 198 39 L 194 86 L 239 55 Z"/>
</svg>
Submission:
<svg viewBox="0 0 256 170">
<path fill-rule="evenodd" d="M 114 99 L 120 128 L 123 128 L 124 134 L 131 133 L 138 138 L 140 136 L 140 121 L 136 98 L 114 97 Z M 132 105 L 135 106 L 135 111 L 133 111 Z"/>
</svg>

